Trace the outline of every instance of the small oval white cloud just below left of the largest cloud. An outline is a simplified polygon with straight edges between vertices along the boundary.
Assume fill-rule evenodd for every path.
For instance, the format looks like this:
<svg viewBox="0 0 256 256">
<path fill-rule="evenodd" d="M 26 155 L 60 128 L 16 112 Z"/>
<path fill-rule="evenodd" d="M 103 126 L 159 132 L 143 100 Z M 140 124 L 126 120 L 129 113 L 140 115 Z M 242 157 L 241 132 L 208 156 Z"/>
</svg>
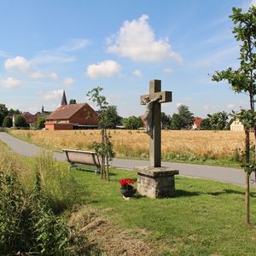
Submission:
<svg viewBox="0 0 256 256">
<path fill-rule="evenodd" d="M 102 77 L 110 78 L 114 74 L 119 73 L 120 70 L 121 67 L 118 62 L 108 60 L 89 65 L 86 73 L 90 79 L 98 79 Z"/>
</svg>

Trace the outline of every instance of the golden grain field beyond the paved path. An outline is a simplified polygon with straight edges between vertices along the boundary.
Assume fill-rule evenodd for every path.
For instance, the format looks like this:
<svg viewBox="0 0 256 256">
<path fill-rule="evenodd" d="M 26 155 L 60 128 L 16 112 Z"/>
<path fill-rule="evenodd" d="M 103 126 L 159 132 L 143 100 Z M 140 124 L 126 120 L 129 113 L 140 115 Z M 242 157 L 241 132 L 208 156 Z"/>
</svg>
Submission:
<svg viewBox="0 0 256 256">
<path fill-rule="evenodd" d="M 16 137 L 47 148 L 91 149 L 101 141 L 99 130 L 10 131 Z M 148 157 L 148 135 L 144 131 L 110 130 L 113 148 L 119 157 Z M 230 158 L 243 149 L 243 131 L 162 131 L 162 155 L 196 155 L 212 159 Z"/>
</svg>

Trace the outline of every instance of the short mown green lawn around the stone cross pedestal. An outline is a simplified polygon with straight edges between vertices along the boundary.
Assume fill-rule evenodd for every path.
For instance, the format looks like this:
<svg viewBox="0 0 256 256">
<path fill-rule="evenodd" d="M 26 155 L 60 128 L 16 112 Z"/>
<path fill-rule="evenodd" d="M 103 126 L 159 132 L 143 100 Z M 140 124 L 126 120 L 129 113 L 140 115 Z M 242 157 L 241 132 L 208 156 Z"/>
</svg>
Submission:
<svg viewBox="0 0 256 256">
<path fill-rule="evenodd" d="M 162 255 L 255 255 L 256 193 L 251 193 L 252 226 L 245 225 L 244 189 L 205 179 L 177 177 L 177 197 L 125 201 L 119 179 L 135 172 L 111 170 L 111 181 L 74 171 L 104 218 L 150 241 Z"/>
</svg>

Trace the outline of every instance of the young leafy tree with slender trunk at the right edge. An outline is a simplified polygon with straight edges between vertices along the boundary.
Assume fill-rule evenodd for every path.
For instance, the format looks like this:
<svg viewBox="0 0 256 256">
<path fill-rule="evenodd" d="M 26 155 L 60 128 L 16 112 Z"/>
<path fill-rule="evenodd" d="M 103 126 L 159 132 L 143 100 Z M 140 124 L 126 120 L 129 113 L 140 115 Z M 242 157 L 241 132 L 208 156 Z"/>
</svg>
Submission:
<svg viewBox="0 0 256 256">
<path fill-rule="evenodd" d="M 256 94 L 256 8 L 252 6 L 247 13 L 241 13 L 240 8 L 233 8 L 233 15 L 230 18 L 234 22 L 233 33 L 240 46 L 240 67 L 233 70 L 232 67 L 223 71 L 217 71 L 212 75 L 213 81 L 227 80 L 231 85 L 232 90 L 237 93 L 245 93 L 249 96 L 250 110 L 241 111 L 241 122 L 245 125 L 245 165 L 250 164 L 250 148 L 249 128 L 254 129 L 254 139 L 256 141 L 256 127 L 249 127 L 249 119 L 254 116 L 254 96 Z M 243 118 L 247 116 L 247 118 Z M 253 124 L 254 125 L 254 124 Z M 256 143 L 255 143 L 256 146 Z M 253 161 L 255 162 L 255 156 Z M 246 172 L 246 223 L 250 224 L 249 220 L 249 177 L 250 172 L 244 168 Z"/>
</svg>

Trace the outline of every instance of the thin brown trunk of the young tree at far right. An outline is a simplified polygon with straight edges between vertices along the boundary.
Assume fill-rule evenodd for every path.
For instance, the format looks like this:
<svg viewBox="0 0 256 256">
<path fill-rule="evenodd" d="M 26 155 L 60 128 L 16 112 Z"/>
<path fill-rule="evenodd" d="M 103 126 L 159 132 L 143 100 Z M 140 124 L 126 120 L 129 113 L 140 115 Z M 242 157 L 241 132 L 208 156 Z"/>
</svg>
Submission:
<svg viewBox="0 0 256 256">
<path fill-rule="evenodd" d="M 250 132 L 245 129 L 246 163 L 250 162 Z M 250 175 L 246 172 L 246 224 L 250 224 Z"/>
</svg>

